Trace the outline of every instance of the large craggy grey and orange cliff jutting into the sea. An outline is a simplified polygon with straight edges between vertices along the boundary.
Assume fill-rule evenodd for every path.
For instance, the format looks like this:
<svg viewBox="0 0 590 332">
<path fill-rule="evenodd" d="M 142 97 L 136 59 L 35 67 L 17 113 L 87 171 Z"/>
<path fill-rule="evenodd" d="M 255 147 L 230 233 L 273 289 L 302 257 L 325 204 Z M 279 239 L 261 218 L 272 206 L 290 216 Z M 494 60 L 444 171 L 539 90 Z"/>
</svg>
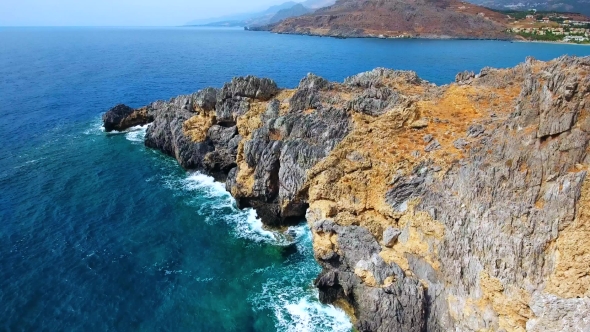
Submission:
<svg viewBox="0 0 590 332">
<path fill-rule="evenodd" d="M 267 225 L 305 216 L 320 299 L 359 331 L 590 329 L 590 57 L 444 86 L 236 78 L 125 110 L 105 128 L 153 121 L 147 146 Z"/>
</svg>

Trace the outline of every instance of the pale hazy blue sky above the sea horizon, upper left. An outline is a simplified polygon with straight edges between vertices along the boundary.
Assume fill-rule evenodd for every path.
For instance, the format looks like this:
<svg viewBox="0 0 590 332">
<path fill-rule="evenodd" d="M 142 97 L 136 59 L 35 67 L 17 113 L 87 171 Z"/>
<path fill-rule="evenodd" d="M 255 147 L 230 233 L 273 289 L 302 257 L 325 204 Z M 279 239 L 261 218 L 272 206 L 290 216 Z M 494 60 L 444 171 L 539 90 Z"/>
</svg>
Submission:
<svg viewBox="0 0 590 332">
<path fill-rule="evenodd" d="M 0 0 L 0 26 L 182 25 L 194 19 L 264 10 L 285 1 Z"/>
</svg>

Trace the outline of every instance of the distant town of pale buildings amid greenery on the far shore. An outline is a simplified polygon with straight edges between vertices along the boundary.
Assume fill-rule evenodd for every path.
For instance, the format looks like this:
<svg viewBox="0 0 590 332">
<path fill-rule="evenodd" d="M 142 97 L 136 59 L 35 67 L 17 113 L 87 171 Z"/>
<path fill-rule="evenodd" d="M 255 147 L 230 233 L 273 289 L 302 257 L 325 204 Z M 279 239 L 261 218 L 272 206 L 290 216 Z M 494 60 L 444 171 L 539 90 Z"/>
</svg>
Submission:
<svg viewBox="0 0 590 332">
<path fill-rule="evenodd" d="M 526 40 L 590 44 L 590 20 L 575 20 L 567 14 L 534 10 L 526 15 L 522 13 L 507 13 L 514 19 L 509 33 Z"/>
</svg>

